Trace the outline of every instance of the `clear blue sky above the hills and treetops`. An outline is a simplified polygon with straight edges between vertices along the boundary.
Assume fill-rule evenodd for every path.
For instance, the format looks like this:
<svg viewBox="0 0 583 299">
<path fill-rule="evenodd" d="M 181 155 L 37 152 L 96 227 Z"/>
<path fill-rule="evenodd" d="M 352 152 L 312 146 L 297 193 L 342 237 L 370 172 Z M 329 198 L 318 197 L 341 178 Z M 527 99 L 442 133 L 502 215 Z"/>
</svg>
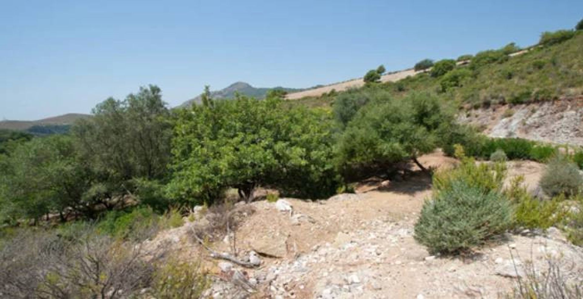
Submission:
<svg viewBox="0 0 583 299">
<path fill-rule="evenodd" d="M 583 1 L 0 0 L 0 118 L 89 113 L 157 84 L 171 106 L 245 81 L 310 87 L 571 29 Z"/>
</svg>

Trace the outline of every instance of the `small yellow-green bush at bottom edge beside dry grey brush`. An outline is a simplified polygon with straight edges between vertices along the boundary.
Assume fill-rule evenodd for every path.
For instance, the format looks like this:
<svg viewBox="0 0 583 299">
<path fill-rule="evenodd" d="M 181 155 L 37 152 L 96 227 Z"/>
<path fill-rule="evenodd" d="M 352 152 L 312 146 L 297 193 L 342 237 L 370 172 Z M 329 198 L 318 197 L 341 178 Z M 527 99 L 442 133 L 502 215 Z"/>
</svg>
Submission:
<svg viewBox="0 0 583 299">
<path fill-rule="evenodd" d="M 200 264 L 170 259 L 154 272 L 150 293 L 159 299 L 198 299 L 209 284 Z"/>
</svg>

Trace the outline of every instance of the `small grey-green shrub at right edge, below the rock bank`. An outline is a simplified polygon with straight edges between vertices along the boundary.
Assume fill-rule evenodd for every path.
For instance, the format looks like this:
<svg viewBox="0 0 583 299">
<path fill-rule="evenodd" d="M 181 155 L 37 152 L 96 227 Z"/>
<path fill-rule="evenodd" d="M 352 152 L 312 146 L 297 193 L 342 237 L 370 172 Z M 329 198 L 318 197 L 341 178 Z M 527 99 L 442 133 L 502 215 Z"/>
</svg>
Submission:
<svg viewBox="0 0 583 299">
<path fill-rule="evenodd" d="M 547 164 L 539 184 L 549 196 L 570 196 L 578 194 L 583 184 L 583 176 L 575 163 L 566 156 L 557 155 Z"/>
</svg>

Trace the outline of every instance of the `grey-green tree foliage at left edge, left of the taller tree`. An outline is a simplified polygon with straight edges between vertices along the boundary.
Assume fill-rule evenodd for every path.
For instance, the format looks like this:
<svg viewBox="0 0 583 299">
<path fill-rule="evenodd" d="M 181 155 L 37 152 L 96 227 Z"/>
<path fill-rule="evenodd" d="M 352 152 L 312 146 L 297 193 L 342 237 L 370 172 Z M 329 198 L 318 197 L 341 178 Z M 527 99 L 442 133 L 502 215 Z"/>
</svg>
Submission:
<svg viewBox="0 0 583 299">
<path fill-rule="evenodd" d="M 86 193 L 92 173 L 75 154 L 69 136 L 34 138 L 16 144 L 4 159 L 0 173 L 0 219 L 35 221 L 66 209 L 92 215 L 100 198 Z"/>
</svg>

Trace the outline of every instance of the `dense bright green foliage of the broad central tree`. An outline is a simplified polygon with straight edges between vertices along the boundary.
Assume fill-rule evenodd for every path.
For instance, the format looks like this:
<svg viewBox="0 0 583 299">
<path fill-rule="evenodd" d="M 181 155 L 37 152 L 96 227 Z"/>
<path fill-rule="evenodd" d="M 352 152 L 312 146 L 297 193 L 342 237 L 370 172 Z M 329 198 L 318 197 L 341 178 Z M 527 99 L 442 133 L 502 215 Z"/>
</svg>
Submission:
<svg viewBox="0 0 583 299">
<path fill-rule="evenodd" d="M 194 105 L 174 127 L 171 198 L 212 203 L 228 187 L 250 200 L 255 187 L 273 186 L 300 197 L 333 193 L 329 113 L 284 109 L 280 99 L 238 97 Z"/>
</svg>

